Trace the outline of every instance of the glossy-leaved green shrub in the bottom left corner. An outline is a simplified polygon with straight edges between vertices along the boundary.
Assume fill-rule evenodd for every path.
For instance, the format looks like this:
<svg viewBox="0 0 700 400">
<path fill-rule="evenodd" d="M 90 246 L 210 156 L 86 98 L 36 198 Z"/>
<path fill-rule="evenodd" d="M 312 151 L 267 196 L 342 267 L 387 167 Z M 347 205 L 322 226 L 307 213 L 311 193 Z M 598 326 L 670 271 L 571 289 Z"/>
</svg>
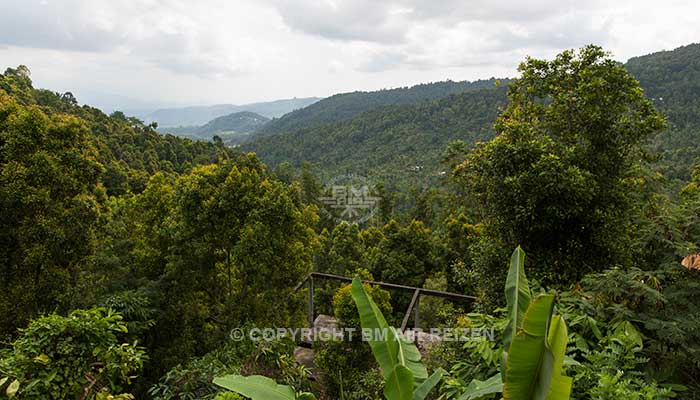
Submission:
<svg viewBox="0 0 700 400">
<path fill-rule="evenodd" d="M 21 398 L 99 399 L 119 393 L 146 360 L 135 343 L 122 343 L 126 333 L 121 315 L 103 308 L 40 317 L 0 360 L 0 374 L 20 382 Z"/>
</svg>

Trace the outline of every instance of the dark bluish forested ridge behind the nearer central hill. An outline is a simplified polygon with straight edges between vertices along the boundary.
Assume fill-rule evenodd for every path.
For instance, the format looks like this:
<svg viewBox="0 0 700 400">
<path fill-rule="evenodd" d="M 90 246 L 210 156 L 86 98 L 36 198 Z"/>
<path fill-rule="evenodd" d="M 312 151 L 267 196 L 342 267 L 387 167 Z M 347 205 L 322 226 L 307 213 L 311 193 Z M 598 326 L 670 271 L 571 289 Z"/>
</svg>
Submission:
<svg viewBox="0 0 700 400">
<path fill-rule="evenodd" d="M 444 81 L 374 92 L 340 93 L 281 118 L 273 119 L 260 130 L 260 133 L 281 133 L 314 128 L 322 124 L 345 121 L 378 107 L 440 99 L 455 93 L 493 87 L 495 82 L 494 78 L 474 82 Z"/>
</svg>

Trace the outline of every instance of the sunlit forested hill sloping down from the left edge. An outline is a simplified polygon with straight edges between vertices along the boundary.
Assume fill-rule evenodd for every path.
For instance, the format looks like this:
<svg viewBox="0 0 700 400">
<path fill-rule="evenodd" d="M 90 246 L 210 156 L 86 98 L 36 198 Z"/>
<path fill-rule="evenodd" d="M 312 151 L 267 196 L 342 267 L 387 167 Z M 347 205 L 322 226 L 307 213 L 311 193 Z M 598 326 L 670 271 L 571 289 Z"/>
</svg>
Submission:
<svg viewBox="0 0 700 400">
<path fill-rule="evenodd" d="M 57 129 L 51 118 L 62 121 L 63 114 L 78 117 L 72 123 L 77 124 L 82 132 L 80 136 L 94 149 L 99 163 L 99 181 L 108 194 L 140 192 L 149 177 L 157 172 L 181 173 L 195 165 L 215 163 L 234 154 L 221 145 L 161 135 L 153 126 L 120 112 L 108 116 L 97 108 L 78 106 L 69 92 L 60 94 L 35 89 L 29 69 L 24 66 L 8 68 L 0 74 L 0 97 L 7 110 L 19 107 L 28 121 L 48 124 L 45 129 Z"/>
</svg>

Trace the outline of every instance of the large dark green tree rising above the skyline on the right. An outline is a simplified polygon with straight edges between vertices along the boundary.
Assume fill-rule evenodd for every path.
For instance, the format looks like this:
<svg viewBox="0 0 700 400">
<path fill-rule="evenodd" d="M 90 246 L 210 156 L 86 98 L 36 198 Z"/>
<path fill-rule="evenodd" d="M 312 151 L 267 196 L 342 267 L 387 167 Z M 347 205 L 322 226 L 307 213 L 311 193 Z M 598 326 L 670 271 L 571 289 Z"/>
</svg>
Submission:
<svg viewBox="0 0 700 400">
<path fill-rule="evenodd" d="M 486 227 L 479 268 L 503 275 L 499 260 L 517 244 L 544 283 L 627 264 L 640 146 L 664 118 L 597 46 L 552 61 L 528 58 L 518 70 L 497 137 L 455 168 Z"/>
</svg>

